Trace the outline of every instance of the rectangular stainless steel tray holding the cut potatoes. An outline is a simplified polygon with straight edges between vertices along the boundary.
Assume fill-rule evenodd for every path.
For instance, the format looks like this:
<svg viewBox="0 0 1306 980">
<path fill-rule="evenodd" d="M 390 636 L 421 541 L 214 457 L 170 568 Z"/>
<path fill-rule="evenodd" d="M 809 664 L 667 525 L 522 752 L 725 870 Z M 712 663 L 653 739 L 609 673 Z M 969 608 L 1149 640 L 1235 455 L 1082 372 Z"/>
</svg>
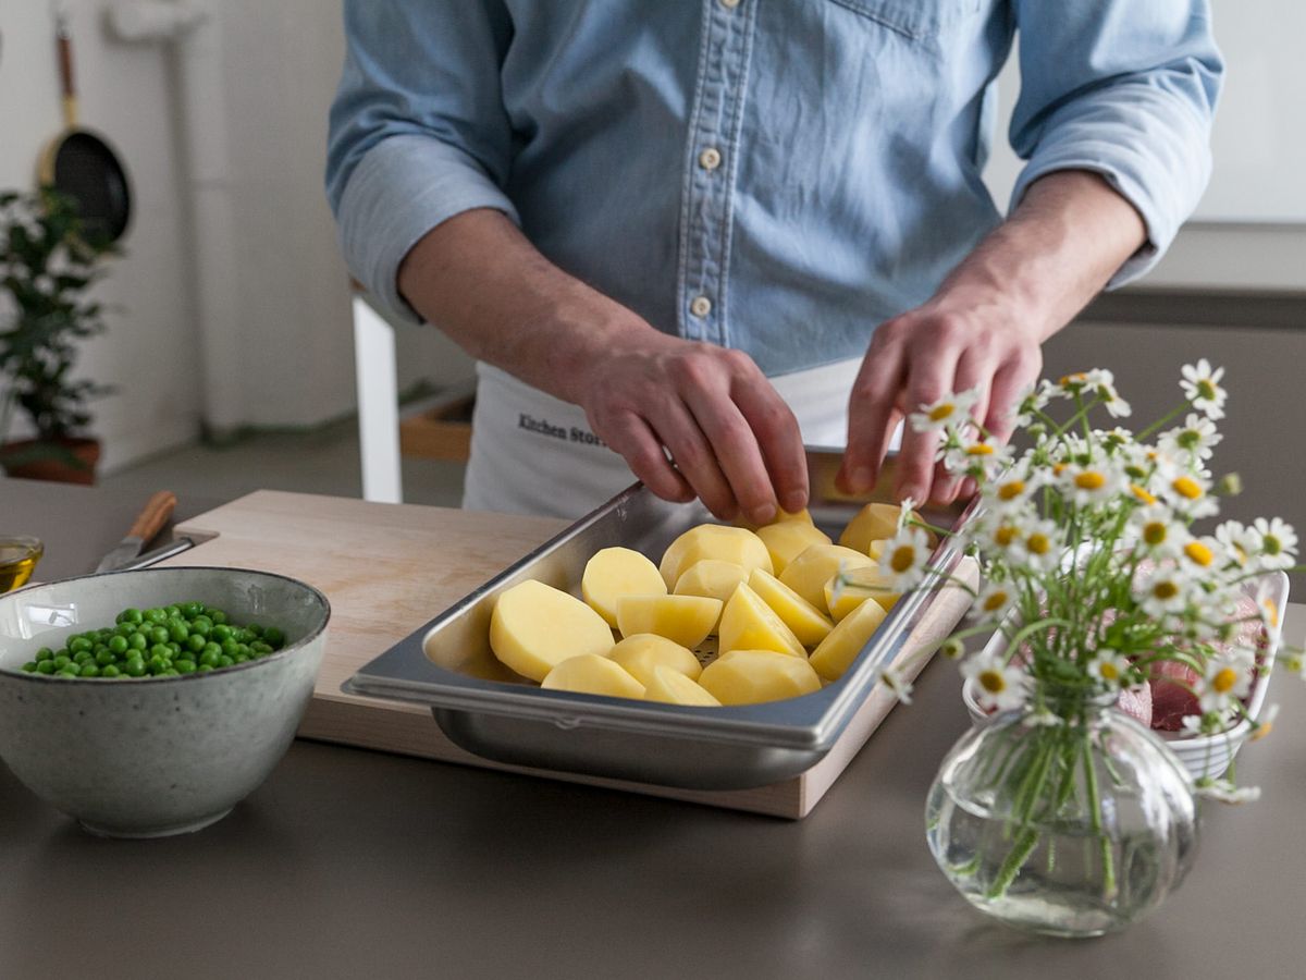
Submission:
<svg viewBox="0 0 1306 980">
<path fill-rule="evenodd" d="M 808 449 L 808 510 L 831 537 L 874 499 L 835 489 L 838 461 L 836 451 Z M 944 527 L 963 517 L 960 508 L 926 516 Z M 709 520 L 701 504 L 667 503 L 636 483 L 372 660 L 343 690 L 430 706 L 451 741 L 502 763 L 692 789 L 746 789 L 798 775 L 838 740 L 876 666 L 897 656 L 934 592 L 904 596 L 840 681 L 767 704 L 693 708 L 543 690 L 490 651 L 490 614 L 504 589 L 539 579 L 579 593 L 585 562 L 601 547 L 624 545 L 657 562 L 678 534 Z M 944 540 L 934 579 L 960 558 Z"/>
</svg>

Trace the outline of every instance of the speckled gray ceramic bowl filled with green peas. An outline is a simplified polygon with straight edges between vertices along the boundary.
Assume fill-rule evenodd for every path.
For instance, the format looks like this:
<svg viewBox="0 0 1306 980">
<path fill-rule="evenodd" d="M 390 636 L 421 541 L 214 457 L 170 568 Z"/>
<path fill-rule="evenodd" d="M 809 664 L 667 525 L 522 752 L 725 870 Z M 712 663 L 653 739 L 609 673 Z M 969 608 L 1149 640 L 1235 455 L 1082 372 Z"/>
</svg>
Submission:
<svg viewBox="0 0 1306 980">
<path fill-rule="evenodd" d="M 286 753 L 330 606 L 244 568 L 88 575 L 0 596 L 0 758 L 103 836 L 200 830 Z"/>
</svg>

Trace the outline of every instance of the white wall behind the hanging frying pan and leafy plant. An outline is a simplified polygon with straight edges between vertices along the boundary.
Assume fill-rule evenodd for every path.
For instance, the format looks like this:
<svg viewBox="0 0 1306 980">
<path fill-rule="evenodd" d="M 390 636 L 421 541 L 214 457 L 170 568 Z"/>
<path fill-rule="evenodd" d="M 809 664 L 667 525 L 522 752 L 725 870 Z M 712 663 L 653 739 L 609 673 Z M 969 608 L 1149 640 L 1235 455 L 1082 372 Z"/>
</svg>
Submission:
<svg viewBox="0 0 1306 980">
<path fill-rule="evenodd" d="M 212 13 L 202 30 L 219 31 L 222 48 L 235 239 L 229 328 L 215 338 L 235 383 L 225 379 L 217 434 L 315 426 L 355 401 L 347 276 L 321 189 L 325 115 L 343 52 L 338 4 L 200 5 Z M 99 286 L 121 312 L 80 361 L 81 374 L 118 388 L 93 406 L 112 470 L 200 438 L 205 419 L 179 64 L 168 46 L 118 41 L 108 7 L 65 4 L 82 122 L 119 149 L 136 196 L 125 255 Z M 61 125 L 51 4 L 0 0 L 0 187 L 29 187 L 42 145 Z M 401 327 L 397 341 L 401 389 L 470 374 L 430 328 Z"/>
</svg>

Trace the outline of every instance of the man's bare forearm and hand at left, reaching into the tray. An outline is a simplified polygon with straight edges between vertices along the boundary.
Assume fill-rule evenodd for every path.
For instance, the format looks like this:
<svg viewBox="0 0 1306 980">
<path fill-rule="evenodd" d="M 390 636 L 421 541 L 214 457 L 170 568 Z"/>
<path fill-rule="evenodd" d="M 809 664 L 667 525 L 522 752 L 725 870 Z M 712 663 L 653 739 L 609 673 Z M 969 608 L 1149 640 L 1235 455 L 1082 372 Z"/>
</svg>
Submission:
<svg viewBox="0 0 1306 980">
<path fill-rule="evenodd" d="M 473 357 L 585 409 L 658 497 L 765 523 L 807 504 L 793 412 L 738 350 L 671 337 L 545 259 L 496 210 L 428 231 L 400 291 Z"/>
</svg>

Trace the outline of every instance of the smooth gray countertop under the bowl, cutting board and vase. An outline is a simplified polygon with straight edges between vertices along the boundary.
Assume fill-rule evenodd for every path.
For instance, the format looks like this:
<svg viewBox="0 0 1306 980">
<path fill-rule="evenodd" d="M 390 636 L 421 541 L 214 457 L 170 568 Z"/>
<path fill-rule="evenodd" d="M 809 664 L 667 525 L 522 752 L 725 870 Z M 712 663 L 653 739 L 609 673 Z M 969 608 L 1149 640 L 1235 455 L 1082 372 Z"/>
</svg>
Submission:
<svg viewBox="0 0 1306 980">
<path fill-rule="evenodd" d="M 78 529 L 48 579 L 141 502 L 7 481 L 0 503 L 13 531 Z M 1207 805 L 1179 891 L 1089 941 L 996 925 L 935 868 L 925 793 L 966 727 L 942 661 L 797 823 L 296 741 L 219 823 L 112 841 L 0 764 L 0 977 L 1302 976 L 1306 690 L 1282 672 L 1269 700 L 1239 757 L 1262 800 Z"/>
</svg>

